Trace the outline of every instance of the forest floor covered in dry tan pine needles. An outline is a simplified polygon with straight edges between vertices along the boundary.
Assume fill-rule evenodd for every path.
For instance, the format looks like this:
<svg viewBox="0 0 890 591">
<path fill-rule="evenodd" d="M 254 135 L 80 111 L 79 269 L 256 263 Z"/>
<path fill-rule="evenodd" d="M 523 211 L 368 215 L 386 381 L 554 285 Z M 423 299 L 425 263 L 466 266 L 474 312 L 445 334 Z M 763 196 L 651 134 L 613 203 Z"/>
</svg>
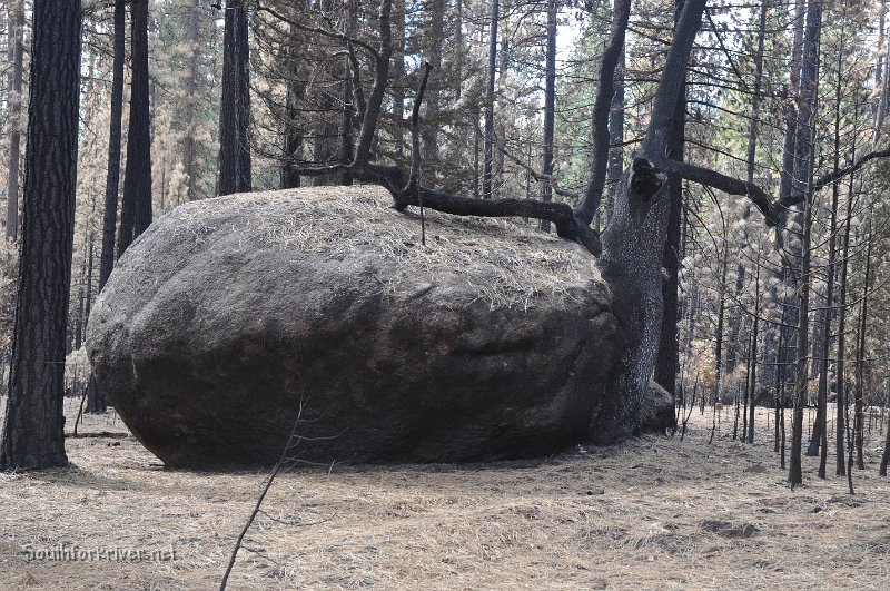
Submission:
<svg viewBox="0 0 890 591">
<path fill-rule="evenodd" d="M 792 492 L 768 413 L 745 445 L 732 412 L 711 444 L 696 411 L 683 441 L 281 474 L 229 588 L 890 589 L 878 426 L 854 495 L 833 454 Z M 265 474 L 165 470 L 113 413 L 79 431 L 71 467 L 0 474 L 0 589 L 218 588 Z"/>
</svg>

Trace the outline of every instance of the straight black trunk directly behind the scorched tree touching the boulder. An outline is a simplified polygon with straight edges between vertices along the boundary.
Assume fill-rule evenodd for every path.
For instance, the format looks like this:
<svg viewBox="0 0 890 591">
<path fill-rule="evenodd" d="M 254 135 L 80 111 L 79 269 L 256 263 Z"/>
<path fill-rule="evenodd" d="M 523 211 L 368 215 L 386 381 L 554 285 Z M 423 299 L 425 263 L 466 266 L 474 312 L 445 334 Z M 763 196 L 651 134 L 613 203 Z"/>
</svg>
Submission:
<svg viewBox="0 0 890 591">
<path fill-rule="evenodd" d="M 674 21 L 680 19 L 685 0 L 676 0 Z M 686 128 L 686 72 L 685 65 L 680 73 L 680 99 L 674 107 L 671 127 L 668 131 L 668 158 L 682 162 Z M 672 176 L 668 179 L 671 211 L 668 218 L 668 242 L 662 254 L 662 267 L 668 272 L 668 280 L 662 285 L 664 314 L 661 321 L 661 337 L 655 364 L 655 382 L 674 395 L 676 372 L 680 366 L 680 349 L 676 337 L 678 311 L 680 307 L 680 217 L 683 210 L 683 179 Z"/>
</svg>

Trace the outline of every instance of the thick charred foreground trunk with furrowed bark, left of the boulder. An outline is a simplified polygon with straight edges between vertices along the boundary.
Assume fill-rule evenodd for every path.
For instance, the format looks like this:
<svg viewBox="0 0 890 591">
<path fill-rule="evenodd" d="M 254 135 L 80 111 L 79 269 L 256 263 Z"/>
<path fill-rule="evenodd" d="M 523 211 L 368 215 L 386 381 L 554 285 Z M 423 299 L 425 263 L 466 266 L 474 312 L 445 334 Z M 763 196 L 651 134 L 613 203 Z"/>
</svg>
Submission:
<svg viewBox="0 0 890 591">
<path fill-rule="evenodd" d="M 65 466 L 80 0 L 34 0 L 19 293 L 0 470 Z"/>
</svg>

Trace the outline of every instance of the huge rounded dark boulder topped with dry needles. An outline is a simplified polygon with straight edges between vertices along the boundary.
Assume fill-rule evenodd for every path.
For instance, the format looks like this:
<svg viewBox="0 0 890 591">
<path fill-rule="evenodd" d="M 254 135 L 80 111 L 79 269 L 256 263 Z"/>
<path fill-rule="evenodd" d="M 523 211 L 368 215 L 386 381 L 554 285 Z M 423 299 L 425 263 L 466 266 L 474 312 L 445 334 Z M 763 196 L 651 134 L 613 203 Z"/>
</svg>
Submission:
<svg viewBox="0 0 890 591">
<path fill-rule="evenodd" d="M 190 203 L 118 262 L 88 328 L 99 386 L 169 466 L 546 454 L 583 437 L 615 354 L 580 246 L 372 187 Z M 301 408 L 301 411 L 300 411 Z"/>
</svg>

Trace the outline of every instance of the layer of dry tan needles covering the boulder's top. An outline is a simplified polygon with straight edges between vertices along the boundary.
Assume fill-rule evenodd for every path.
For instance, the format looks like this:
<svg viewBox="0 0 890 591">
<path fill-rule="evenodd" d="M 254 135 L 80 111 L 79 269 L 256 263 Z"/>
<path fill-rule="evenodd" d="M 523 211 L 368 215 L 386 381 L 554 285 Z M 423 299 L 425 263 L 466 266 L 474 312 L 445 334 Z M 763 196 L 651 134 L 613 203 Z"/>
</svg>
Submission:
<svg viewBox="0 0 890 591">
<path fill-rule="evenodd" d="M 197 239 L 216 230 L 214 213 L 243 211 L 245 239 L 265 247 L 323 255 L 350 263 L 374 253 L 395 273 L 377 277 L 380 288 L 416 292 L 418 279 L 447 274 L 465 282 L 492 308 L 531 306 L 546 297 L 556 303 L 573 288 L 600 280 L 596 263 L 581 246 L 543 235 L 520 220 L 459 217 L 426 210 L 426 246 L 421 219 L 411 208 L 399 214 L 376 186 L 309 187 L 251 193 L 178 207 L 165 224 Z"/>
</svg>

